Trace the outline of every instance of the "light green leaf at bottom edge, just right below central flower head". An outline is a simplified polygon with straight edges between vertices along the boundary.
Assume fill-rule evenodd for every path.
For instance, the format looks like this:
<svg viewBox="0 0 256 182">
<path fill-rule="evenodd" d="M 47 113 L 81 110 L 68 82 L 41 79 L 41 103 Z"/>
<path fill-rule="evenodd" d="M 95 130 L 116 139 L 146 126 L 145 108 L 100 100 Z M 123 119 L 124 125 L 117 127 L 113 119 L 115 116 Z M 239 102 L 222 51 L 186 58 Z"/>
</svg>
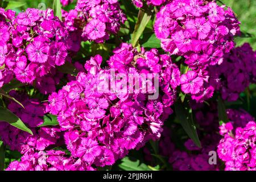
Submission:
<svg viewBox="0 0 256 182">
<path fill-rule="evenodd" d="M 131 157 L 123 158 L 122 163 L 119 164 L 119 168 L 125 171 L 152 171 L 144 163 L 141 163 L 138 159 L 131 159 Z"/>
</svg>

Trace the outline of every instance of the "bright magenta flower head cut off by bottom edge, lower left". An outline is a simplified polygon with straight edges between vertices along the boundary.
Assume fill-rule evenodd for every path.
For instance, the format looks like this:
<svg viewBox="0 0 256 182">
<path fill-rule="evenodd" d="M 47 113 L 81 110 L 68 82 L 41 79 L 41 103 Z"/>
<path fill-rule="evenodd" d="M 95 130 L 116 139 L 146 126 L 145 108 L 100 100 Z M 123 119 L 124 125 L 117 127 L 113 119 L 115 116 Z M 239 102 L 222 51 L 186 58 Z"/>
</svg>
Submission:
<svg viewBox="0 0 256 182">
<path fill-rule="evenodd" d="M 84 171 L 94 170 L 68 158 L 64 151 L 48 150 L 25 154 L 20 161 L 11 162 L 6 171 Z"/>
</svg>

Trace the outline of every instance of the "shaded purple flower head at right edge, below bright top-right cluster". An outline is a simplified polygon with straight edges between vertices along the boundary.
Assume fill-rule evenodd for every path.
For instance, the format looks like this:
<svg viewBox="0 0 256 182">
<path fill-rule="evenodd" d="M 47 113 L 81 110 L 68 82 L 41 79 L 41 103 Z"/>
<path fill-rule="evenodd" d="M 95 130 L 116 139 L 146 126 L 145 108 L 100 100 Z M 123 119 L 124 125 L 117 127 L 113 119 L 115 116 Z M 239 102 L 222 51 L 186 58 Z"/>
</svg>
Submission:
<svg viewBox="0 0 256 182">
<path fill-rule="evenodd" d="M 218 90 L 224 100 L 236 101 L 250 83 L 255 83 L 256 51 L 248 43 L 232 49 L 221 65 L 212 67 L 220 79 Z"/>
</svg>

